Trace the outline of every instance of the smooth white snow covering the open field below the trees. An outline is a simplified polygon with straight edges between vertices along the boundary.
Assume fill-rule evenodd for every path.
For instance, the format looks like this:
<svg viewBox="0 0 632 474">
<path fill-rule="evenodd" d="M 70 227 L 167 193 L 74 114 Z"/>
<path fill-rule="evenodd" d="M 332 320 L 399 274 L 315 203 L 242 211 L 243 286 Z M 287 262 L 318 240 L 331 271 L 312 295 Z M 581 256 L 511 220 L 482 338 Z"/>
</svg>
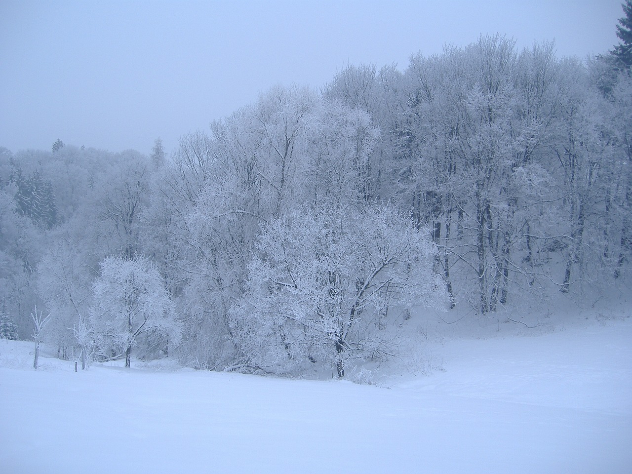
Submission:
<svg viewBox="0 0 632 474">
<path fill-rule="evenodd" d="M 563 328 L 562 328 L 563 329 Z M 429 375 L 74 372 L 0 340 L 6 473 L 629 473 L 632 318 L 435 344 Z"/>
</svg>

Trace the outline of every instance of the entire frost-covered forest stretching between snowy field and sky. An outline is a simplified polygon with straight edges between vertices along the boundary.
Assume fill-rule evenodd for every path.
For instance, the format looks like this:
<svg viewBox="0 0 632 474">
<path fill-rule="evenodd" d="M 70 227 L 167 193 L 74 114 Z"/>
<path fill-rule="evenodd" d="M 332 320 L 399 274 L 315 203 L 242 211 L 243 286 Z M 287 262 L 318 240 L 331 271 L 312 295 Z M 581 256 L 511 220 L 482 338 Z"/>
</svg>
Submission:
<svg viewBox="0 0 632 474">
<path fill-rule="evenodd" d="M 630 62 L 488 35 L 274 87 L 172 152 L 1 148 L 0 336 L 344 377 L 427 312 L 629 287 Z"/>
</svg>

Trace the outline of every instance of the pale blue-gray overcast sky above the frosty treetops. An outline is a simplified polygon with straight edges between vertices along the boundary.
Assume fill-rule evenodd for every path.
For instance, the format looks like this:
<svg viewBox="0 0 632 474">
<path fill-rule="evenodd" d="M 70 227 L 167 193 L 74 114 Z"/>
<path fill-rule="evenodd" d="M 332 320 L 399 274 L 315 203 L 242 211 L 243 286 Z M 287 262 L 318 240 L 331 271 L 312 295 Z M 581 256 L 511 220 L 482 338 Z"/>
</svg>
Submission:
<svg viewBox="0 0 632 474">
<path fill-rule="evenodd" d="M 404 70 L 481 33 L 584 58 L 617 44 L 621 16 L 621 0 L 0 0 L 0 146 L 170 152 L 272 85 Z"/>
</svg>

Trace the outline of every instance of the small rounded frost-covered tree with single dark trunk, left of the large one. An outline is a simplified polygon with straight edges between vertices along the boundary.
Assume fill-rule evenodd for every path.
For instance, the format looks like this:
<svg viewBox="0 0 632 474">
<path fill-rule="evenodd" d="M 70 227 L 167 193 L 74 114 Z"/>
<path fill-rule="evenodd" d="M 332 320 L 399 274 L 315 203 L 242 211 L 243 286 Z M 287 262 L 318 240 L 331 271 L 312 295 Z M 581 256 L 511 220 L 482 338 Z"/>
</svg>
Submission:
<svg viewBox="0 0 632 474">
<path fill-rule="evenodd" d="M 179 343 L 180 326 L 171 296 L 146 258 L 105 258 L 93 292 L 90 323 L 100 349 L 124 352 L 125 367 L 131 365 L 131 350 L 140 336 L 162 338 L 164 346 Z"/>
</svg>

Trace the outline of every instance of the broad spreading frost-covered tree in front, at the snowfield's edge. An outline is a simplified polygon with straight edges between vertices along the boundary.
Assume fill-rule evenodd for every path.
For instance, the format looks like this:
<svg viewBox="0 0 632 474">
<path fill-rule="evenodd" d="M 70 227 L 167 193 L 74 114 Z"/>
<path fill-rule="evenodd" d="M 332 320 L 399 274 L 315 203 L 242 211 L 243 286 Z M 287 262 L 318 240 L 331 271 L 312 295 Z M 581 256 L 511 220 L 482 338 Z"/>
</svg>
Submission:
<svg viewBox="0 0 632 474">
<path fill-rule="evenodd" d="M 388 207 L 304 210 L 276 219 L 257 241 L 248 289 L 231 314 L 247 365 L 289 371 L 388 352 L 389 307 L 441 307 L 436 249 Z"/>
</svg>

